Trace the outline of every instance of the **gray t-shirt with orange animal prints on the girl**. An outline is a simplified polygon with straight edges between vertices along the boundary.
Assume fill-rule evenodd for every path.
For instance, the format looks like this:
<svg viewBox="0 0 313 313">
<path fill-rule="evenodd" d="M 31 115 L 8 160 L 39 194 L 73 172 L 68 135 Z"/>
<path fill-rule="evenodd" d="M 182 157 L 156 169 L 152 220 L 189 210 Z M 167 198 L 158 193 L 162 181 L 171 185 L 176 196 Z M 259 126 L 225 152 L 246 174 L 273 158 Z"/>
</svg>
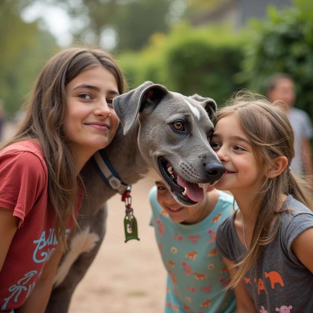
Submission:
<svg viewBox="0 0 313 313">
<path fill-rule="evenodd" d="M 256 273 L 254 266 L 248 270 L 244 285 L 258 312 L 310 313 L 313 312 L 313 274 L 293 254 L 291 244 L 305 229 L 313 227 L 313 213 L 291 195 L 285 202 L 295 211 L 281 213 L 275 240 L 264 247 Z M 224 257 L 238 263 L 246 249 L 236 233 L 234 216 L 219 226 L 216 247 Z"/>
</svg>

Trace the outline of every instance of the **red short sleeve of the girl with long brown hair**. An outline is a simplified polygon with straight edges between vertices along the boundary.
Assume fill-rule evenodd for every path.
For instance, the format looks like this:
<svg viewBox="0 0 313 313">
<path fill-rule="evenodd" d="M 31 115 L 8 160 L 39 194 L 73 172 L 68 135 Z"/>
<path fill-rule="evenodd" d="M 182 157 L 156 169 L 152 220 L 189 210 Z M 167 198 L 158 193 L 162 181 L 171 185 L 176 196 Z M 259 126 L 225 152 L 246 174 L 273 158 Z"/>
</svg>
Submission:
<svg viewBox="0 0 313 313">
<path fill-rule="evenodd" d="M 8 151 L 0 155 L 0 207 L 13 211 L 21 227 L 45 184 L 41 160 L 30 151 Z"/>
</svg>

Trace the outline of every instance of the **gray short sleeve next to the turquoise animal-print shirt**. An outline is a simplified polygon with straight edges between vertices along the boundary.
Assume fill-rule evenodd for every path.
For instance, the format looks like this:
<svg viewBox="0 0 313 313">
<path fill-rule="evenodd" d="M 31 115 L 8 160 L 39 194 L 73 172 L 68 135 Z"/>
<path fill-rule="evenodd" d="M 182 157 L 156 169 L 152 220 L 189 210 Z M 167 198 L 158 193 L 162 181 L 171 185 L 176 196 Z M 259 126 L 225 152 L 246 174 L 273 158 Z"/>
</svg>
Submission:
<svg viewBox="0 0 313 313">
<path fill-rule="evenodd" d="M 216 249 L 227 259 L 232 259 L 232 253 L 229 250 L 231 235 L 232 216 L 226 218 L 222 224 L 218 226 L 216 233 Z"/>
</svg>

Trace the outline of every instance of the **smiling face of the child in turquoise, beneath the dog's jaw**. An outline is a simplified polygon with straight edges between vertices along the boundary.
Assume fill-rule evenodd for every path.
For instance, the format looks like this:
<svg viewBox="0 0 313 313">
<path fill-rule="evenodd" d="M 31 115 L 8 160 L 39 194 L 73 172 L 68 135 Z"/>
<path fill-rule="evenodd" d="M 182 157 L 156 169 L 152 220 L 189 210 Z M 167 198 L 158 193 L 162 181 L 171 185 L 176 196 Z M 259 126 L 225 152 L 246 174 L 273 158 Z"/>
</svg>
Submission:
<svg viewBox="0 0 313 313">
<path fill-rule="evenodd" d="M 157 201 L 161 207 L 168 213 L 171 220 L 175 223 L 186 223 L 192 224 L 196 223 L 197 215 L 203 207 L 201 204 L 207 201 L 207 192 L 204 192 L 204 199 L 201 203 L 198 203 L 193 207 L 183 207 L 178 203 L 172 196 L 171 192 L 167 186 L 162 181 L 156 181 L 157 187 Z M 207 191 L 214 189 L 213 186 L 208 187 L 208 185 L 203 186 L 207 188 Z"/>
</svg>

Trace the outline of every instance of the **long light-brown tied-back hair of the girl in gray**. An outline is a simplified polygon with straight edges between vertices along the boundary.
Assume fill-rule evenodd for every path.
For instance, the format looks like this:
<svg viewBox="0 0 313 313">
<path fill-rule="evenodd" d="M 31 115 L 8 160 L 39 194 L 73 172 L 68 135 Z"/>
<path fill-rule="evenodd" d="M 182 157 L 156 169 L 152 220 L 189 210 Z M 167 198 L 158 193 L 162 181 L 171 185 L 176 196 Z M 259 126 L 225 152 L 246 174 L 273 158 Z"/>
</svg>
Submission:
<svg viewBox="0 0 313 313">
<path fill-rule="evenodd" d="M 217 114 L 218 122 L 225 116 L 236 115 L 239 124 L 252 146 L 259 167 L 273 166 L 278 156 L 286 156 L 288 166 L 277 177 L 265 178 L 261 190 L 255 196 L 253 206 L 259 208 L 249 251 L 239 263 L 228 288 L 234 288 L 252 265 L 255 265 L 264 246 L 271 243 L 280 227 L 280 213 L 290 212 L 290 208 L 278 210 L 279 194 L 292 195 L 312 210 L 313 200 L 304 180 L 296 178 L 290 171 L 290 162 L 295 155 L 294 133 L 283 110 L 260 95 L 239 92 L 233 96 Z M 278 217 L 278 225 L 270 233 L 273 220 Z"/>
</svg>

